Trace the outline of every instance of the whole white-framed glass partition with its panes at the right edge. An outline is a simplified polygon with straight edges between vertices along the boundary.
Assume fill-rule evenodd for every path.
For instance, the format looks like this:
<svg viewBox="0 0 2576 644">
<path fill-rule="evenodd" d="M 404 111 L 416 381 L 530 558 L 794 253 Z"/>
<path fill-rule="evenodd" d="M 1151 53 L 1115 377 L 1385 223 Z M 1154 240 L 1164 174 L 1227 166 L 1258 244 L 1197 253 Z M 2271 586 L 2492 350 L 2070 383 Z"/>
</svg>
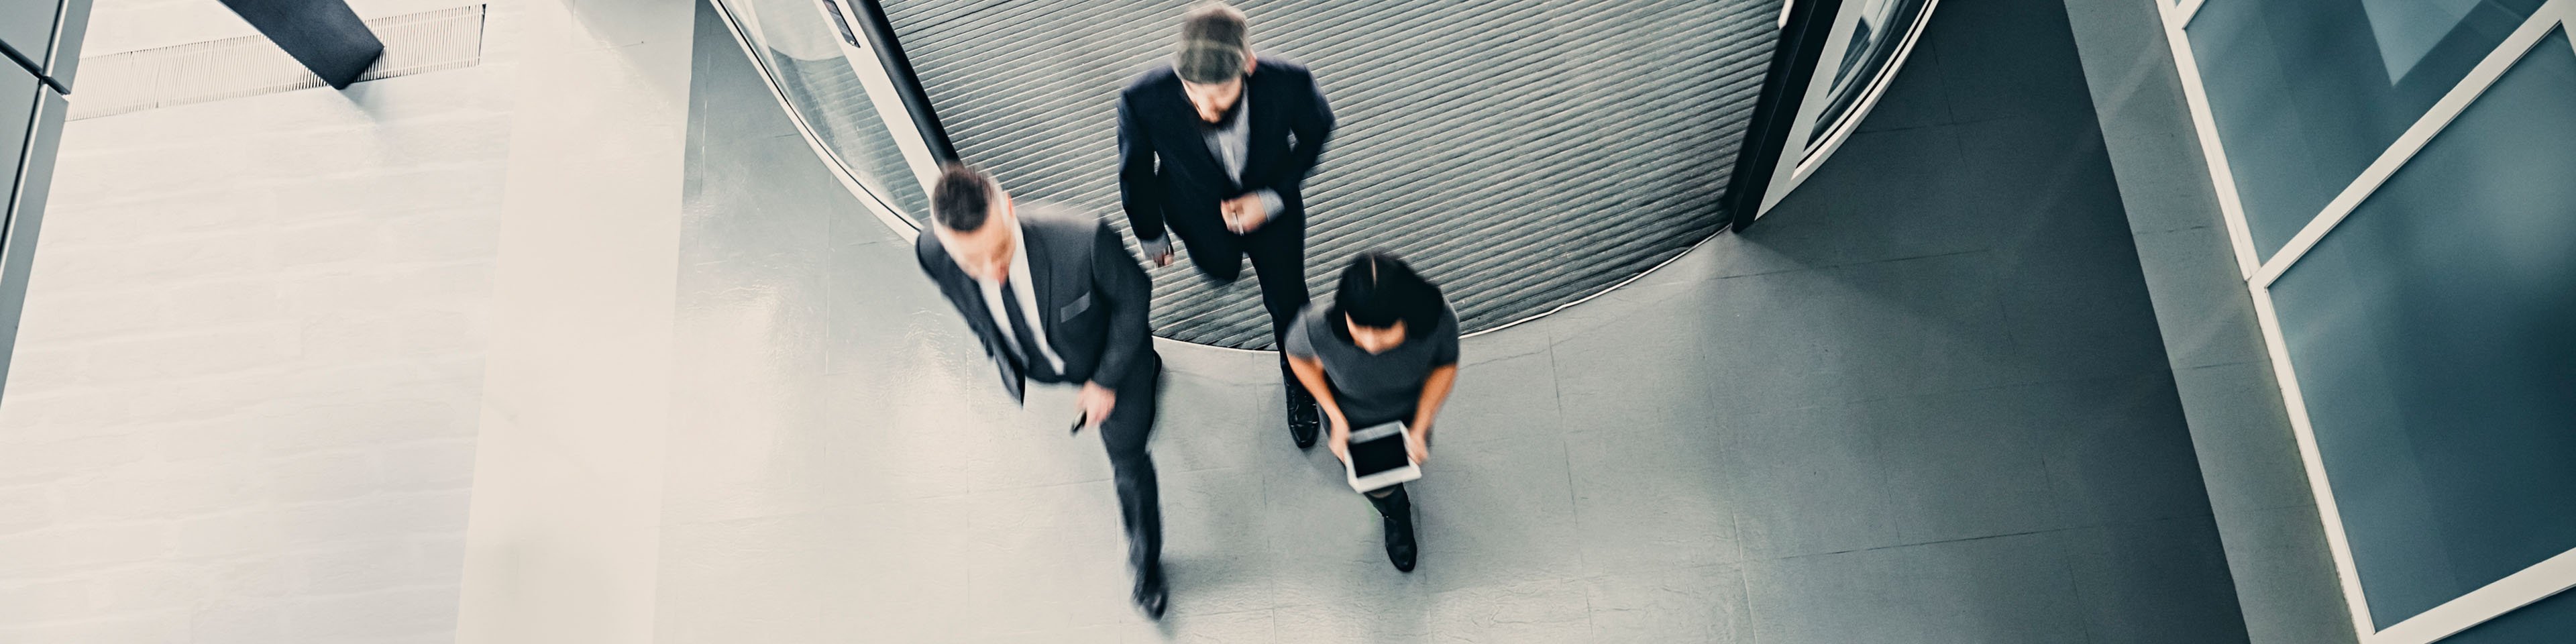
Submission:
<svg viewBox="0 0 2576 644">
<path fill-rule="evenodd" d="M 2576 0 L 2166 10 L 2360 641 L 2535 623 L 2512 616 L 2576 587 L 2571 23 Z"/>
</svg>

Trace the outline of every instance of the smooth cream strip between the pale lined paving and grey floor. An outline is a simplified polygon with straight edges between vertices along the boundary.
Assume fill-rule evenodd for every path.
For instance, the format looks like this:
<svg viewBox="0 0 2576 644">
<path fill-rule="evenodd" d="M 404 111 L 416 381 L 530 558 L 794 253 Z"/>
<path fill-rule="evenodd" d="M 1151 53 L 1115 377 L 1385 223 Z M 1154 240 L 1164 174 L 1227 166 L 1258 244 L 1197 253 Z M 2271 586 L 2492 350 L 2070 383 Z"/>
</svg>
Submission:
<svg viewBox="0 0 2576 644">
<path fill-rule="evenodd" d="M 690 0 L 523 0 L 456 641 L 652 641 Z"/>
</svg>

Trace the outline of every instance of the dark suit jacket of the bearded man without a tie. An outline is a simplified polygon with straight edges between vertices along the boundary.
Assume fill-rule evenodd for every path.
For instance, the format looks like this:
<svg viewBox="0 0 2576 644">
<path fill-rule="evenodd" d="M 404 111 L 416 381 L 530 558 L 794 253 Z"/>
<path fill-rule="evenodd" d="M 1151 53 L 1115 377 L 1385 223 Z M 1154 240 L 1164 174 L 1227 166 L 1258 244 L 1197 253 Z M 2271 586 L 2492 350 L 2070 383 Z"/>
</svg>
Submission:
<svg viewBox="0 0 2576 644">
<path fill-rule="evenodd" d="M 1280 196 L 1273 219 L 1303 222 L 1303 185 L 1332 137 L 1332 106 L 1296 62 L 1260 59 L 1244 82 L 1252 134 L 1242 183 L 1208 149 L 1198 108 L 1170 64 L 1118 93 L 1118 196 L 1136 240 L 1162 240 L 1164 227 L 1182 240 L 1224 232 L 1216 204 L 1260 188 Z"/>
</svg>

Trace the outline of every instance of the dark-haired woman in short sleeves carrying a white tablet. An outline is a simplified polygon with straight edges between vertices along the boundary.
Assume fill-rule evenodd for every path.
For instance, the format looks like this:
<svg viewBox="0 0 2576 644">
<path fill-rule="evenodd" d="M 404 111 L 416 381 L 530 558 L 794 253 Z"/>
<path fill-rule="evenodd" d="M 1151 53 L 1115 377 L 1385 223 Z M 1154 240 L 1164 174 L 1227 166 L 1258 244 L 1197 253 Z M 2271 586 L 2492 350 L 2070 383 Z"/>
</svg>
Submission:
<svg viewBox="0 0 2576 644">
<path fill-rule="evenodd" d="M 1324 407 L 1324 446 L 1386 523 L 1386 559 L 1412 572 L 1414 505 L 1404 482 L 1422 477 L 1432 420 L 1458 381 L 1458 314 L 1396 255 L 1360 252 L 1332 307 L 1306 304 L 1283 350 Z"/>
</svg>

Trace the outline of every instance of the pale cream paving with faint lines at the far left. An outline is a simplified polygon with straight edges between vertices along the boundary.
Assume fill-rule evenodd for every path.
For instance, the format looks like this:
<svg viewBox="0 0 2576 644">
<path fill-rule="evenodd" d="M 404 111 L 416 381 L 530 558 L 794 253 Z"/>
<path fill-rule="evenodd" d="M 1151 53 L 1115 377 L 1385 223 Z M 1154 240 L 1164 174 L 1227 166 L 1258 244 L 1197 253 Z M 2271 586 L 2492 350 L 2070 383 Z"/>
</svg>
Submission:
<svg viewBox="0 0 2576 644">
<path fill-rule="evenodd" d="M 222 18 L 106 0 L 88 54 L 247 33 Z M 453 641 L 495 52 L 64 129 L 0 402 L 0 641 Z"/>
</svg>

